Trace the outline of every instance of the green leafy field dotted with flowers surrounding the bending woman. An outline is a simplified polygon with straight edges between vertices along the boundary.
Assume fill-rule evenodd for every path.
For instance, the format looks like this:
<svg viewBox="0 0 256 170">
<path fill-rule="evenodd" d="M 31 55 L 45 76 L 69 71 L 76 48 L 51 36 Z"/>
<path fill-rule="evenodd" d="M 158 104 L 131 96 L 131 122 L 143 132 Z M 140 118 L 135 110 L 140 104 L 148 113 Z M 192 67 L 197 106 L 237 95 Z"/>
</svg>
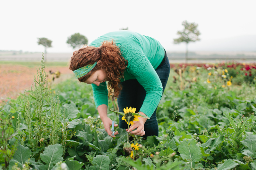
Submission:
<svg viewBox="0 0 256 170">
<path fill-rule="evenodd" d="M 112 130 L 119 132 L 115 138 L 108 136 L 91 85 L 73 76 L 50 90 L 42 61 L 33 90 L 0 106 L 0 167 L 256 170 L 255 66 L 171 64 L 157 109 L 159 136 L 144 140 L 118 127 Z M 118 124 L 112 96 L 108 117 Z M 138 116 L 129 107 L 120 113 L 130 121 L 127 126 Z"/>
</svg>

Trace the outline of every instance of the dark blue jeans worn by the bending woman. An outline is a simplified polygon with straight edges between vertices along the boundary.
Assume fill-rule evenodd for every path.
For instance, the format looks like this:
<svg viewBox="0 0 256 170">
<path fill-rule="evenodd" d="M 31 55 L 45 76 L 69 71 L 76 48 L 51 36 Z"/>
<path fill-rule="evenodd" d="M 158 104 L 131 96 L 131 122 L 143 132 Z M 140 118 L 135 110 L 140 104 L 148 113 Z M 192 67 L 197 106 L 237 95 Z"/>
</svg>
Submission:
<svg viewBox="0 0 256 170">
<path fill-rule="evenodd" d="M 163 85 L 163 92 L 165 86 L 168 81 L 169 73 L 170 73 L 170 63 L 168 57 L 166 58 L 164 64 L 156 69 L 156 73 L 159 76 L 161 83 Z M 136 112 L 139 112 L 140 107 L 143 104 L 143 101 L 146 96 L 146 91 L 140 85 L 140 83 L 136 79 L 126 80 L 121 82 L 123 89 L 117 98 L 119 112 L 124 112 L 123 109 L 128 107 L 135 107 Z M 157 109 L 157 107 L 156 107 Z M 119 127 L 123 129 L 127 129 L 127 123 L 122 120 L 122 115 L 119 115 Z M 147 138 L 148 136 L 158 136 L 158 123 L 156 120 L 156 110 L 153 115 L 147 120 L 144 124 L 145 135 L 142 136 Z"/>
</svg>

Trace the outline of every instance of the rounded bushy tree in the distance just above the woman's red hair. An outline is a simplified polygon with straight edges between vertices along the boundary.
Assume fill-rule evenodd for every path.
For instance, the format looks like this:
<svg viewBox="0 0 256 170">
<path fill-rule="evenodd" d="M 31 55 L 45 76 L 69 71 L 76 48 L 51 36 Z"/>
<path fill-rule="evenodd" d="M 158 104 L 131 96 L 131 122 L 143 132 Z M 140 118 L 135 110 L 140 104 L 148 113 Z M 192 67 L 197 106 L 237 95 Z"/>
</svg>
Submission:
<svg viewBox="0 0 256 170">
<path fill-rule="evenodd" d="M 80 33 L 74 33 L 73 35 L 68 37 L 67 43 L 70 44 L 73 49 L 75 49 L 79 48 L 81 45 L 87 44 L 88 39 Z"/>
</svg>

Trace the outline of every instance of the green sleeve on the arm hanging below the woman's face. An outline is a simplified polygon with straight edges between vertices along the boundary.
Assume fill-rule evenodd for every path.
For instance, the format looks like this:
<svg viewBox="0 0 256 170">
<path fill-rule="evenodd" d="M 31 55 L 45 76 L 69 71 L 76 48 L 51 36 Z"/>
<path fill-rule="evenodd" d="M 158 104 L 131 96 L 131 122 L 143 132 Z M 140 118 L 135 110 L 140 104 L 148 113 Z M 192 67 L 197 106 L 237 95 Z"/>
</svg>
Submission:
<svg viewBox="0 0 256 170">
<path fill-rule="evenodd" d="M 100 83 L 99 86 L 92 84 L 92 92 L 96 108 L 102 104 L 108 106 L 108 88 L 106 82 Z"/>
</svg>

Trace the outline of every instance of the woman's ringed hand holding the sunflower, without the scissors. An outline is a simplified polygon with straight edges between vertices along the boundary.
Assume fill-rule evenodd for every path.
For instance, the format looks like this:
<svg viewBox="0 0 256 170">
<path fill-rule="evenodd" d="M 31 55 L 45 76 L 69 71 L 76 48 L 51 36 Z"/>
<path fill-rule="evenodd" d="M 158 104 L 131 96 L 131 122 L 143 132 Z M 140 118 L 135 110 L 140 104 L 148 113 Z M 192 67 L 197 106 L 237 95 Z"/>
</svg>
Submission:
<svg viewBox="0 0 256 170">
<path fill-rule="evenodd" d="M 145 115 L 143 112 L 140 112 L 139 114 Z M 147 119 L 143 118 L 143 117 L 138 117 L 138 119 L 139 119 L 139 121 L 133 121 L 133 125 L 129 128 L 129 130 L 126 129 L 126 131 L 131 132 L 134 135 L 143 136 L 143 135 L 145 135 L 144 124 L 147 121 Z M 136 130 L 134 130 L 134 129 L 136 129 Z M 134 130 L 134 131 L 132 131 L 132 130 Z"/>
</svg>

